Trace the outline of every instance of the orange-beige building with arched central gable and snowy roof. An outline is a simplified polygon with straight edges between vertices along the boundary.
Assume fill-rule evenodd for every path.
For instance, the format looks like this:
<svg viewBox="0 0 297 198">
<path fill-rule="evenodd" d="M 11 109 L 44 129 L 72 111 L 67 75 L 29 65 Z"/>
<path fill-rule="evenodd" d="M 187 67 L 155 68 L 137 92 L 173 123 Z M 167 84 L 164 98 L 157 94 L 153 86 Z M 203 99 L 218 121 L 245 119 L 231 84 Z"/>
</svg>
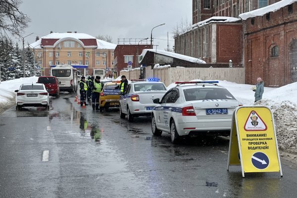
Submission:
<svg viewBox="0 0 297 198">
<path fill-rule="evenodd" d="M 28 47 L 33 48 L 36 62 L 43 75 L 50 74 L 55 65 L 71 65 L 83 75 L 91 75 L 95 68 L 114 70 L 116 45 L 84 33 L 50 33 Z"/>
</svg>

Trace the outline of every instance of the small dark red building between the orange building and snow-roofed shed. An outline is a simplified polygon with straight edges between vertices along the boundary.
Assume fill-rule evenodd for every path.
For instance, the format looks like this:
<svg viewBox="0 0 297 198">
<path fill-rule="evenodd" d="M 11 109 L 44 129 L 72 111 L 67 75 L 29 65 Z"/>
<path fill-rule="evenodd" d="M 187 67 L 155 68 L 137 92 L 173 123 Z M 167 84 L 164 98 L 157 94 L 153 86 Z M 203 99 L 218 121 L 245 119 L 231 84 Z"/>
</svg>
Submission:
<svg viewBox="0 0 297 198">
<path fill-rule="evenodd" d="M 143 49 L 152 49 L 146 39 L 118 39 L 118 45 L 114 49 L 114 64 L 117 74 L 128 67 L 128 62 L 132 62 L 132 68 L 139 67 L 139 57 Z"/>
</svg>

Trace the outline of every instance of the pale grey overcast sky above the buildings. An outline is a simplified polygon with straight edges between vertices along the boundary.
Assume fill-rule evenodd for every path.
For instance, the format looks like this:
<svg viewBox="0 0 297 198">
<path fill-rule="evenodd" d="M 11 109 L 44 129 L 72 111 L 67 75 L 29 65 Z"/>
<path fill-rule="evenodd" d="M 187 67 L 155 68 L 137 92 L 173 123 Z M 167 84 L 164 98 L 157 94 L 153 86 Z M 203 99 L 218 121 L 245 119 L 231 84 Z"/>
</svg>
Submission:
<svg viewBox="0 0 297 198">
<path fill-rule="evenodd" d="M 118 38 L 150 38 L 153 30 L 158 49 L 174 45 L 173 27 L 182 18 L 192 22 L 192 0 L 23 0 L 20 10 L 28 14 L 31 23 L 24 36 L 25 43 L 35 42 L 53 32 L 77 31 L 92 36 L 110 35 L 113 43 Z"/>
</svg>

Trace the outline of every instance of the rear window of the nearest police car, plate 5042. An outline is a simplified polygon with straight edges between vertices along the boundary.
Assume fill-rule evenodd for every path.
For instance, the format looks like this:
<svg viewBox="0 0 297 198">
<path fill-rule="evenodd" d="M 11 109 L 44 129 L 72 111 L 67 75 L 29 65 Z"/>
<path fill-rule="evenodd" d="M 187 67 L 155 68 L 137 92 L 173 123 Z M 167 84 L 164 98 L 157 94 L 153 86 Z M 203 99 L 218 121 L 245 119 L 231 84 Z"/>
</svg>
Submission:
<svg viewBox="0 0 297 198">
<path fill-rule="evenodd" d="M 191 88 L 184 89 L 186 101 L 203 99 L 235 99 L 232 94 L 222 88 Z"/>
</svg>

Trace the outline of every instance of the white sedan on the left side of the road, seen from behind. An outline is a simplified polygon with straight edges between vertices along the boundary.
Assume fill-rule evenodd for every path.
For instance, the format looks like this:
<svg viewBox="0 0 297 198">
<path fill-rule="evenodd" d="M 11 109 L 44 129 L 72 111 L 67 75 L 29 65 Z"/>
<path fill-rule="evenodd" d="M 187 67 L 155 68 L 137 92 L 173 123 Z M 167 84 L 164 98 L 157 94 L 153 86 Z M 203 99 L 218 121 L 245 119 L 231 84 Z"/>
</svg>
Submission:
<svg viewBox="0 0 297 198">
<path fill-rule="evenodd" d="M 26 106 L 44 106 L 49 109 L 49 93 L 44 84 L 22 84 L 15 90 L 16 110 Z"/>
</svg>

